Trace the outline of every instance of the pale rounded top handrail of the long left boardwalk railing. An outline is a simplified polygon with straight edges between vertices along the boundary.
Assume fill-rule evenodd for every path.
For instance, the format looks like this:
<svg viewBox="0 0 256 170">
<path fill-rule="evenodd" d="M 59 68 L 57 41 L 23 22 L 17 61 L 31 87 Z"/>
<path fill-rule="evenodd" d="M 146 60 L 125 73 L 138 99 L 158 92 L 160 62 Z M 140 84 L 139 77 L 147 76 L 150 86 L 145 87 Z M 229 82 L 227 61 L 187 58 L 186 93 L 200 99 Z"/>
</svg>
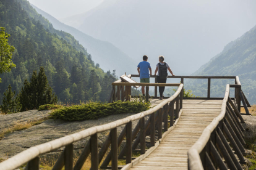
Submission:
<svg viewBox="0 0 256 170">
<path fill-rule="evenodd" d="M 22 166 L 23 164 L 28 163 L 29 161 L 32 161 L 35 158 L 38 158 L 38 156 L 41 154 L 48 153 L 53 150 L 57 150 L 58 148 L 61 148 L 61 147 L 67 148 L 67 146 L 70 146 L 70 148 L 72 148 L 72 144 L 74 142 L 85 139 L 86 137 L 90 137 L 90 136 L 92 137 L 95 134 L 100 132 L 109 131 L 109 130 L 113 131 L 113 129 L 116 129 L 116 127 L 118 126 L 130 123 L 131 121 L 134 121 L 137 119 L 144 118 L 147 115 L 151 115 L 156 111 L 162 109 L 165 105 L 167 105 L 169 102 L 172 102 L 174 99 L 177 100 L 177 97 L 181 93 L 182 88 L 183 88 L 183 84 L 179 84 L 179 87 L 177 91 L 174 93 L 174 95 L 169 97 L 169 99 L 163 100 L 163 102 L 151 108 L 150 110 L 142 111 L 141 113 L 137 113 L 135 115 L 128 116 L 126 118 L 119 119 L 117 121 L 113 121 L 108 124 L 103 124 L 101 126 L 90 127 L 88 129 L 77 132 L 75 134 L 71 134 L 69 136 L 61 137 L 59 139 L 46 142 L 45 144 L 36 145 L 35 147 L 28 148 L 27 150 L 24 150 L 23 152 L 20 152 L 17 155 L 12 156 L 8 160 L 0 163 L 0 170 L 18 168 L 19 166 Z M 114 131 L 111 132 L 111 135 L 115 136 L 116 132 Z"/>
</svg>

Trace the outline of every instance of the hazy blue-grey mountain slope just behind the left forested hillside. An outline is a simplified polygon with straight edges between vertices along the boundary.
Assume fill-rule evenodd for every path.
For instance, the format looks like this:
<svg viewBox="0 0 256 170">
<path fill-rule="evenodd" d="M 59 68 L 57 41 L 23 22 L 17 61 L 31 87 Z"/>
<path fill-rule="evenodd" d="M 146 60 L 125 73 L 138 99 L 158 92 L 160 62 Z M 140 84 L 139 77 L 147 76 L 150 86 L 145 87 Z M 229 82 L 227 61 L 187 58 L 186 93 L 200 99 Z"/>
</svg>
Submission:
<svg viewBox="0 0 256 170">
<path fill-rule="evenodd" d="M 41 14 L 43 17 L 47 18 L 49 22 L 53 24 L 55 29 L 72 34 L 72 36 L 74 36 L 74 38 L 77 39 L 88 52 L 90 52 L 93 60 L 96 63 L 99 63 L 103 70 L 116 70 L 117 75 L 120 76 L 123 75 L 124 72 L 132 73 L 131 68 L 137 66 L 137 63 L 135 63 L 134 60 L 130 59 L 128 55 L 124 54 L 124 52 L 115 47 L 113 44 L 95 39 L 92 36 L 88 36 L 72 26 L 59 22 L 56 18 L 52 17 L 46 12 L 43 12 L 43 10 L 38 9 L 38 7 L 33 7 L 36 9 L 38 14 Z"/>
</svg>

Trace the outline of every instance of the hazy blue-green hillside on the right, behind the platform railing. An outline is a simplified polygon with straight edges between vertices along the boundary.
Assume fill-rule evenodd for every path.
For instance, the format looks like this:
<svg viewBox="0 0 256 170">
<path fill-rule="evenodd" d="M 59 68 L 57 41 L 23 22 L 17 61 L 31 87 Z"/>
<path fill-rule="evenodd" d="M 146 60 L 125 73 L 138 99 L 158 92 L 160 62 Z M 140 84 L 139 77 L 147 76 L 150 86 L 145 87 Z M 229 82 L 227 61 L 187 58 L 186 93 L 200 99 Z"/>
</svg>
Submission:
<svg viewBox="0 0 256 170">
<path fill-rule="evenodd" d="M 240 38 L 227 44 L 220 54 L 213 57 L 210 62 L 203 65 L 193 75 L 239 76 L 242 91 L 244 91 L 249 102 L 255 104 L 256 26 Z M 223 97 L 226 83 L 234 84 L 234 80 L 213 80 L 211 82 L 211 96 Z M 207 80 L 189 81 L 189 84 L 191 85 L 187 84 L 187 88 L 192 89 L 195 95 L 202 97 L 207 95 Z"/>
</svg>

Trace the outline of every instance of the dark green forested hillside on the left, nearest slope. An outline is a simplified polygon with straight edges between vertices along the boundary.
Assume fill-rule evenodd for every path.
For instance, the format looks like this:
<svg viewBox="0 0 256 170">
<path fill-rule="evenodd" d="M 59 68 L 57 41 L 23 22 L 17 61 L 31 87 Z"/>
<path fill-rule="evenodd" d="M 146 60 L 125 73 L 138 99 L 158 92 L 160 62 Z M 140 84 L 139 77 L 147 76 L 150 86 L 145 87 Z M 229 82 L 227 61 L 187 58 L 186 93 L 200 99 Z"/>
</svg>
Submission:
<svg viewBox="0 0 256 170">
<path fill-rule="evenodd" d="M 9 84 L 19 91 L 40 66 L 45 67 L 49 85 L 62 102 L 108 99 L 115 72 L 104 73 L 73 36 L 54 30 L 27 1 L 0 1 L 0 26 L 11 34 L 9 44 L 15 47 L 12 60 L 16 65 L 0 75 L 1 101 Z"/>
</svg>

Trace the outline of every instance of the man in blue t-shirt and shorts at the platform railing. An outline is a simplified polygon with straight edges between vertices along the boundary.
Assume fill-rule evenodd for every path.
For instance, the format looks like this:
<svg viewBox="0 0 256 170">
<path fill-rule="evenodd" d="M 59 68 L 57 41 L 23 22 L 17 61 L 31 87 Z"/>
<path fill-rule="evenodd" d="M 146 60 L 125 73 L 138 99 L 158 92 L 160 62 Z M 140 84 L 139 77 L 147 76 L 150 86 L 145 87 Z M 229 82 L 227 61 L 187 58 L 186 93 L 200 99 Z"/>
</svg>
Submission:
<svg viewBox="0 0 256 170">
<path fill-rule="evenodd" d="M 148 62 L 148 56 L 143 56 L 143 62 L 140 62 L 138 67 L 138 73 L 140 75 L 140 83 L 150 83 L 150 75 L 152 75 L 150 63 Z M 150 72 L 150 74 L 149 74 Z M 142 86 L 142 94 L 145 96 L 145 86 Z"/>
</svg>

